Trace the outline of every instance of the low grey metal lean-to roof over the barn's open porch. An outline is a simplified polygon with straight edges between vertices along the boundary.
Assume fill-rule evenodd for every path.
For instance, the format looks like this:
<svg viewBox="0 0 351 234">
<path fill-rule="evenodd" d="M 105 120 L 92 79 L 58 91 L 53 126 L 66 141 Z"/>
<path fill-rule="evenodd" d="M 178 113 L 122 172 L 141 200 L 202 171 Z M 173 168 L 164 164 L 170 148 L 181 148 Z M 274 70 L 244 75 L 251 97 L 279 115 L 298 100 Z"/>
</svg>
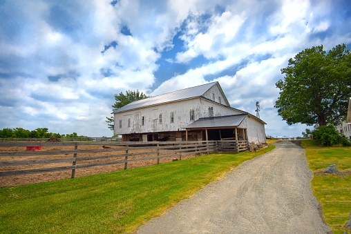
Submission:
<svg viewBox="0 0 351 234">
<path fill-rule="evenodd" d="M 193 121 L 188 126 L 185 126 L 185 128 L 220 128 L 239 126 L 246 116 L 247 114 L 200 118 Z"/>
</svg>

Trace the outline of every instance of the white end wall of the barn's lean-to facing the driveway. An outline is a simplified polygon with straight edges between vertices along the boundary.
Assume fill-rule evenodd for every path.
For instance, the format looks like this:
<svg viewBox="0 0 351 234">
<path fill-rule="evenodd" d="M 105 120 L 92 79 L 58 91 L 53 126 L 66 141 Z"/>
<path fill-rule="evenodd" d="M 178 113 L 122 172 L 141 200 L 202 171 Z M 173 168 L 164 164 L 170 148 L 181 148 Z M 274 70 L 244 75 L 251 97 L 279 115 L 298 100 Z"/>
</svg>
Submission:
<svg viewBox="0 0 351 234">
<path fill-rule="evenodd" d="M 254 142 L 255 144 L 265 144 L 265 124 L 254 117 L 247 117 L 240 124 L 239 128 L 247 128 L 247 138 L 249 143 Z"/>
</svg>

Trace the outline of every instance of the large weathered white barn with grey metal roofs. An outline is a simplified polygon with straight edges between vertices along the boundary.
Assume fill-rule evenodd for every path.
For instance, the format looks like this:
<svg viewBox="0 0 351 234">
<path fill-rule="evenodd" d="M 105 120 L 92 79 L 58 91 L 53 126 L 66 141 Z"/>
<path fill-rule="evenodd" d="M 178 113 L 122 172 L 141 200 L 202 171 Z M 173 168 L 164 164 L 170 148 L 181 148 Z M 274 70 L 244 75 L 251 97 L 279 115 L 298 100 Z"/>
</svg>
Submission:
<svg viewBox="0 0 351 234">
<path fill-rule="evenodd" d="M 265 122 L 231 108 L 218 82 L 133 101 L 115 110 L 114 134 L 124 141 L 237 139 L 265 144 Z"/>
</svg>

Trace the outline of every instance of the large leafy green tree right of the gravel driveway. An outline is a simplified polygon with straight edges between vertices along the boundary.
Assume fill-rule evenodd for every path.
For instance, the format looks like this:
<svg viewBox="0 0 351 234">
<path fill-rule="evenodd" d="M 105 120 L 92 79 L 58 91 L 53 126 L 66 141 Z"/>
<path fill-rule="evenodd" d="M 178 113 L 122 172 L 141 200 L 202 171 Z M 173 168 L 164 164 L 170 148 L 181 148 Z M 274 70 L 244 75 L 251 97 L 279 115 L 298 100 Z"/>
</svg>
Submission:
<svg viewBox="0 0 351 234">
<path fill-rule="evenodd" d="M 351 52 L 338 45 L 328 53 L 307 48 L 289 59 L 275 107 L 287 124 L 337 125 L 346 116 L 351 96 Z"/>
</svg>

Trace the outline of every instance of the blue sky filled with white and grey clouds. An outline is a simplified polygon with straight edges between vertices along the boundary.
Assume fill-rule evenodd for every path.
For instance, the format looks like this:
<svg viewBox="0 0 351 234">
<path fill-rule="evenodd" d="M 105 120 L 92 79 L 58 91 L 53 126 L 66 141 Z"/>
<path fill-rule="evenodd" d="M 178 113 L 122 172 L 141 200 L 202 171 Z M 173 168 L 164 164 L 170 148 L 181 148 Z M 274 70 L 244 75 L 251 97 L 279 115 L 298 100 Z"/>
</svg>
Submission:
<svg viewBox="0 0 351 234">
<path fill-rule="evenodd" d="M 0 0 L 0 129 L 111 137 L 114 94 L 218 81 L 267 135 L 302 136 L 274 108 L 281 68 L 343 43 L 348 0 Z"/>
</svg>

